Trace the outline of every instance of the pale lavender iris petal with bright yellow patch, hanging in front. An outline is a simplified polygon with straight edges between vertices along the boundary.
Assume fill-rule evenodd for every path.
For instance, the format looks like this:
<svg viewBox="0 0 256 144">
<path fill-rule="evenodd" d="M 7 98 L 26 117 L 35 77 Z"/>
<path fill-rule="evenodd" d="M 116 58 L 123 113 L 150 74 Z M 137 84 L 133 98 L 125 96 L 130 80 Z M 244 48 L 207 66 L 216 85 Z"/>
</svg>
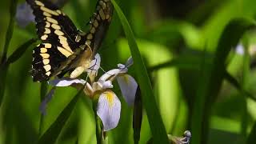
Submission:
<svg viewBox="0 0 256 144">
<path fill-rule="evenodd" d="M 98 98 L 97 114 L 103 123 L 103 130 L 108 131 L 118 126 L 121 102 L 114 92 L 107 90 Z"/>
</svg>

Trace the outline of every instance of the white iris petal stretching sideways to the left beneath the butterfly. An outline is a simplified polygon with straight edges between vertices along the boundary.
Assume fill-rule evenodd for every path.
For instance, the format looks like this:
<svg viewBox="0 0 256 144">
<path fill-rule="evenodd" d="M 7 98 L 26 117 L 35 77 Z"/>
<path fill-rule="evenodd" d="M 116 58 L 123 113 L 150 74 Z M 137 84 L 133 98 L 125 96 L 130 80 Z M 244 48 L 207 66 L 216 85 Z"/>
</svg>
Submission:
<svg viewBox="0 0 256 144">
<path fill-rule="evenodd" d="M 72 84 L 86 84 L 86 81 L 83 79 L 72 79 L 72 78 L 60 78 L 54 79 L 48 82 L 52 86 L 71 86 Z"/>
</svg>

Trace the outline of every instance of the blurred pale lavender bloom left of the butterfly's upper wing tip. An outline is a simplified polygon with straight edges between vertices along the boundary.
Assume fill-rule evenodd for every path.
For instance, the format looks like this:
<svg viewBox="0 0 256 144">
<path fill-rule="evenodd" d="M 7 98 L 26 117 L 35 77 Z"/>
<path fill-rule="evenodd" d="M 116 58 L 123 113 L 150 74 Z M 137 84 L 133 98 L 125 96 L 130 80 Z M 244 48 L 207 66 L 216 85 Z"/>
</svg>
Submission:
<svg viewBox="0 0 256 144">
<path fill-rule="evenodd" d="M 18 26 L 26 27 L 30 22 L 34 22 L 34 14 L 30 6 L 24 2 L 17 6 L 16 20 Z"/>
</svg>

